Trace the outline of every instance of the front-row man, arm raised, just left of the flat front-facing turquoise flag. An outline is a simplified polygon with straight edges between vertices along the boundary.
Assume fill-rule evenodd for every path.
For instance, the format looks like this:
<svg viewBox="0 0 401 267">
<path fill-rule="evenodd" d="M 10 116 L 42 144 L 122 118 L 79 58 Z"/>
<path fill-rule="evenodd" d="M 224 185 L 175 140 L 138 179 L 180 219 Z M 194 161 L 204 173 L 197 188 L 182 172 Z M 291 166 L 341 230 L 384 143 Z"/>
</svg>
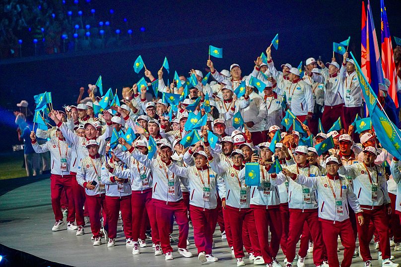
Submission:
<svg viewBox="0 0 401 267">
<path fill-rule="evenodd" d="M 230 168 L 222 167 L 215 159 L 210 160 L 210 167 L 219 174 L 226 186 L 226 214 L 230 222 L 231 236 L 237 266 L 245 266 L 243 251 L 243 226 L 249 230 L 249 238 L 255 259 L 262 255 L 256 231 L 255 217 L 250 205 L 250 188 L 244 180 L 240 180 L 239 172 L 244 169 L 244 154 L 236 149 L 231 153 L 233 165 Z M 226 217 L 224 217 L 226 219 Z M 249 252 L 249 251 L 248 251 Z"/>
</svg>

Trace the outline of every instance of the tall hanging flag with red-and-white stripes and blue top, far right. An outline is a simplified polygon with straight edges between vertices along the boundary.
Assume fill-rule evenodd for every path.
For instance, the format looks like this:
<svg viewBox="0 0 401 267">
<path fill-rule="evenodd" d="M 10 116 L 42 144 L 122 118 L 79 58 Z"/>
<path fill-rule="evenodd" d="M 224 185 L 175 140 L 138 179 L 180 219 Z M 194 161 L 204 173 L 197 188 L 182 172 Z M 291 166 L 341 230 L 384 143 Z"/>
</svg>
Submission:
<svg viewBox="0 0 401 267">
<path fill-rule="evenodd" d="M 396 107 L 399 107 L 398 97 L 397 97 L 397 71 L 396 63 L 394 61 L 393 55 L 393 45 L 391 43 L 391 35 L 389 22 L 387 20 L 386 6 L 384 5 L 384 0 L 380 1 L 381 6 L 381 17 L 382 17 L 382 66 L 383 73 L 386 79 L 390 80 L 390 87 L 388 90 L 388 95 L 393 100 Z"/>
</svg>

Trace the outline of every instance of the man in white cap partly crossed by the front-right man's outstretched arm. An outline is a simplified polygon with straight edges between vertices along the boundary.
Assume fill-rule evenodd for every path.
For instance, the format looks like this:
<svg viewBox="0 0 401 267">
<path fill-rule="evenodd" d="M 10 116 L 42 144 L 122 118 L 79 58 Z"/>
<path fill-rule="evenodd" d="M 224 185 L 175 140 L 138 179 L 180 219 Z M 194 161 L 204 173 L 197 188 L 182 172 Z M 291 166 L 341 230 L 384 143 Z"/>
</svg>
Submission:
<svg viewBox="0 0 401 267">
<path fill-rule="evenodd" d="M 308 148 L 298 146 L 294 152 L 296 164 L 287 166 L 290 172 L 305 175 L 307 177 L 316 177 L 320 175 L 319 168 L 309 164 L 307 160 Z M 271 175 L 271 184 L 280 185 L 286 181 L 284 174 Z M 318 199 L 316 188 L 305 187 L 295 183 L 292 179 L 288 180 L 288 208 L 290 214 L 289 233 L 287 241 L 287 267 L 292 266 L 295 258 L 296 244 L 302 233 L 304 223 L 307 223 L 311 231 L 314 250 L 313 262 L 315 266 L 321 266 L 323 263 L 323 238 L 322 228 L 318 217 Z M 304 255 L 300 255 L 298 262 L 303 263 Z"/>
</svg>

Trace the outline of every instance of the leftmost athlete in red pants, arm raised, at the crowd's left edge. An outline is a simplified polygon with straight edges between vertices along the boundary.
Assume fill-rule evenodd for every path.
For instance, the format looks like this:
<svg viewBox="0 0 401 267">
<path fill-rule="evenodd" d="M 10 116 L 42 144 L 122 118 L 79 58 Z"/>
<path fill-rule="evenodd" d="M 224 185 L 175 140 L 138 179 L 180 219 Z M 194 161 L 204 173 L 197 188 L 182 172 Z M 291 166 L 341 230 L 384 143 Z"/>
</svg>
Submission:
<svg viewBox="0 0 401 267">
<path fill-rule="evenodd" d="M 36 153 L 45 153 L 50 151 L 52 169 L 50 176 L 50 189 L 52 197 L 52 208 L 56 222 L 52 231 L 62 230 L 63 213 L 61 211 L 60 199 L 63 188 L 66 190 L 68 201 L 67 230 L 76 230 L 75 225 L 75 207 L 72 193 L 72 175 L 69 174 L 71 164 L 71 147 L 66 142 L 63 133 L 57 129 L 57 138 L 50 139 L 43 145 L 36 141 L 35 132 L 31 132 L 32 148 Z"/>
</svg>

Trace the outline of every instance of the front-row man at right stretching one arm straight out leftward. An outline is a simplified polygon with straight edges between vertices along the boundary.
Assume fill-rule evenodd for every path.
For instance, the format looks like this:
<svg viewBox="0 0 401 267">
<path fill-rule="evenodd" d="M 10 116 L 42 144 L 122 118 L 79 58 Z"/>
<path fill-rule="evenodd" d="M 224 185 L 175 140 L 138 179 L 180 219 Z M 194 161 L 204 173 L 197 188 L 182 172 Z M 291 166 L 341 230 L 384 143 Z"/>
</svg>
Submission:
<svg viewBox="0 0 401 267">
<path fill-rule="evenodd" d="M 338 175 L 339 161 L 331 156 L 326 160 L 327 175 L 307 177 L 283 169 L 280 175 L 290 177 L 296 183 L 306 187 L 316 188 L 319 194 L 319 220 L 322 224 L 323 239 L 325 241 L 329 267 L 339 267 L 337 255 L 337 237 L 340 236 L 344 246 L 342 267 L 350 267 L 355 249 L 355 241 L 349 221 L 348 205 L 355 212 L 358 224 L 363 225 L 364 218 L 358 199 L 348 181 Z"/>
</svg>

